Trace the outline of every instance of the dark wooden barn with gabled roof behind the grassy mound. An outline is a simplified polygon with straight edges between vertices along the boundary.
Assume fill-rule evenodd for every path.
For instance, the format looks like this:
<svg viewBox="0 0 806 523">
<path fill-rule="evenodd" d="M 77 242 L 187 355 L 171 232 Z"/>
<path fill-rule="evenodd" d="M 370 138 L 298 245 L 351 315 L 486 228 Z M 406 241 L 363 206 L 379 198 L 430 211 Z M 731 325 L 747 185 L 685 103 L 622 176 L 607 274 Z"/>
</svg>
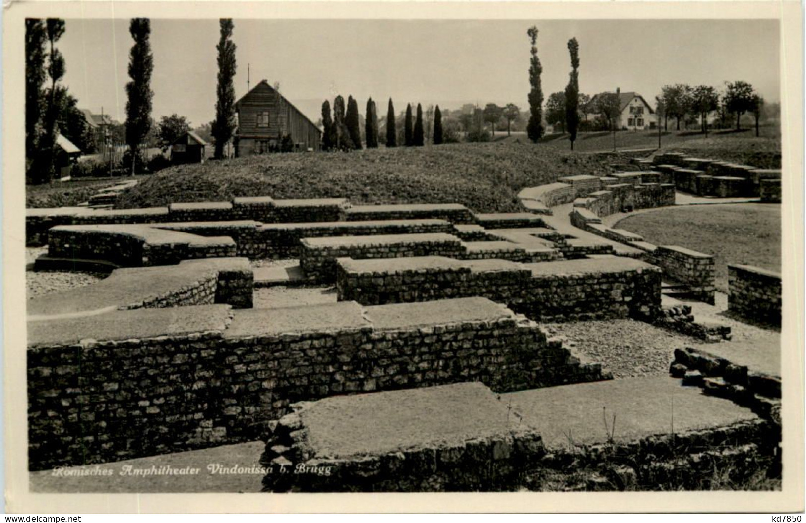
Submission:
<svg viewBox="0 0 806 523">
<path fill-rule="evenodd" d="M 235 103 L 238 129 L 235 131 L 235 156 L 280 151 L 283 139 L 293 151 L 318 151 L 322 131 L 282 94 L 261 81 Z"/>
</svg>

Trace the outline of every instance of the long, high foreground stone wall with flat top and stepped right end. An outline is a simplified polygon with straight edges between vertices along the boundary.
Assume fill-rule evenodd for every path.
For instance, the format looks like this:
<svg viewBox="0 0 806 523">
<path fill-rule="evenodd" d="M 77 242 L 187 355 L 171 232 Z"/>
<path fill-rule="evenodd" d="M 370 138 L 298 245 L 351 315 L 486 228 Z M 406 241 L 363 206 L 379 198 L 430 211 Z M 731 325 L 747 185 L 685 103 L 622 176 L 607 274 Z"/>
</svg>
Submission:
<svg viewBox="0 0 806 523">
<path fill-rule="evenodd" d="M 29 326 L 31 470 L 251 441 L 290 403 L 345 392 L 607 377 L 536 323 L 478 297 L 364 309 L 204 305 L 47 323 Z"/>
</svg>

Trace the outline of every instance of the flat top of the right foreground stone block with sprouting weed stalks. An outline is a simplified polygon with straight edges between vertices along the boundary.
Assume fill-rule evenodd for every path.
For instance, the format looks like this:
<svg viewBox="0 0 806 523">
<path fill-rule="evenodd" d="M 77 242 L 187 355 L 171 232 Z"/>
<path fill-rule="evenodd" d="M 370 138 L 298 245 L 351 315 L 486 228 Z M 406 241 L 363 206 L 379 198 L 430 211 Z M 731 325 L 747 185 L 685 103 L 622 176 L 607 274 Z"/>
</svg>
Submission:
<svg viewBox="0 0 806 523">
<path fill-rule="evenodd" d="M 616 442 L 758 419 L 750 409 L 680 383 L 667 376 L 642 376 L 508 392 L 501 394 L 501 402 L 537 427 L 546 448 L 555 450 L 567 450 L 571 442 L 607 442 L 605 420 L 612 426 L 613 414 Z"/>
</svg>

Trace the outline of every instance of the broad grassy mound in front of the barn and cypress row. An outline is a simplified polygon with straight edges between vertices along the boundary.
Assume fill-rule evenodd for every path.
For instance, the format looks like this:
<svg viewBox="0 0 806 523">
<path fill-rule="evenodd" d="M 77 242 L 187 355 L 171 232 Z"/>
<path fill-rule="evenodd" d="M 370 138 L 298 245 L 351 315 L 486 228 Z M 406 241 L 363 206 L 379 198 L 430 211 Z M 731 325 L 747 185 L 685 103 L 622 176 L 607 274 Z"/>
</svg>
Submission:
<svg viewBox="0 0 806 523">
<path fill-rule="evenodd" d="M 286 153 L 164 169 L 124 193 L 118 208 L 232 197 L 346 197 L 360 203 L 461 203 L 478 212 L 521 210 L 517 193 L 575 174 L 604 175 L 607 155 L 527 143 L 457 143 L 359 152 Z"/>
</svg>

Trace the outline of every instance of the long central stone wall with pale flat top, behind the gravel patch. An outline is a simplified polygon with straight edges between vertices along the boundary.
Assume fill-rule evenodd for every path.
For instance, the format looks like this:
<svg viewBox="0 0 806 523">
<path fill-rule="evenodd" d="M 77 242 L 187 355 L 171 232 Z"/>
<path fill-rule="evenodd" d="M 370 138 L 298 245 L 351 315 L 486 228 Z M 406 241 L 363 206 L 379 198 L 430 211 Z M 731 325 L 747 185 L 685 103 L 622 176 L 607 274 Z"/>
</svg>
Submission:
<svg viewBox="0 0 806 523">
<path fill-rule="evenodd" d="M 660 312 L 659 268 L 607 256 L 539 264 L 504 260 L 339 259 L 339 300 L 362 304 L 481 296 L 538 322 L 638 318 Z"/>
</svg>

